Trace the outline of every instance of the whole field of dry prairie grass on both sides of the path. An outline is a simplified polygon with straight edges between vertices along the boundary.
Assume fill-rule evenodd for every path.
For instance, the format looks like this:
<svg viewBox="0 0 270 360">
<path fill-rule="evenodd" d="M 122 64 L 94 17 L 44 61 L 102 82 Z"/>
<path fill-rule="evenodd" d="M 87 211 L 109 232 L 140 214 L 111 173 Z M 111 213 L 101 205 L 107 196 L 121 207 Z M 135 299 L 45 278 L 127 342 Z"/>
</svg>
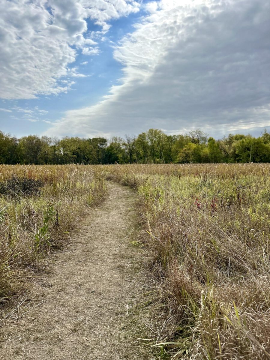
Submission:
<svg viewBox="0 0 270 360">
<path fill-rule="evenodd" d="M 64 246 L 106 181 L 137 192 L 157 359 L 270 359 L 270 165 L 1 165 L 0 300 Z M 144 335 L 145 336 L 145 335 Z"/>
</svg>

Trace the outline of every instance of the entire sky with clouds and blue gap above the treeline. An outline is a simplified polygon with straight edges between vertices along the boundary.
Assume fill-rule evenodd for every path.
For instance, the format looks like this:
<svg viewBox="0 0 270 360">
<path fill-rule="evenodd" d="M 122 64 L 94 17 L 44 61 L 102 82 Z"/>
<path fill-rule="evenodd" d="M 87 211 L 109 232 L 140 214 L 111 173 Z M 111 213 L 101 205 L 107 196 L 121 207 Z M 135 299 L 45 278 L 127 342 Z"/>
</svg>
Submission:
<svg viewBox="0 0 270 360">
<path fill-rule="evenodd" d="M 0 0 L 0 130 L 270 131 L 270 1 Z"/>
</svg>

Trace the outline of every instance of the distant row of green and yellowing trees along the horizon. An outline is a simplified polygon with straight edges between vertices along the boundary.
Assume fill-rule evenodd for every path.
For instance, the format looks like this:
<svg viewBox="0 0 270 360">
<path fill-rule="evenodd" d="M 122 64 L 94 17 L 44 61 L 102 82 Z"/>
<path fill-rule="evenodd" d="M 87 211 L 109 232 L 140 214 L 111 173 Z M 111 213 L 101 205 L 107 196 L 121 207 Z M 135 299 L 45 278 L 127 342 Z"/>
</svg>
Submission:
<svg viewBox="0 0 270 360">
<path fill-rule="evenodd" d="M 215 140 L 201 130 L 166 135 L 150 129 L 125 139 L 113 137 L 49 138 L 29 135 L 20 139 L 0 131 L 2 164 L 112 164 L 112 163 L 270 162 L 270 133 L 258 138 L 231 135 Z"/>
</svg>

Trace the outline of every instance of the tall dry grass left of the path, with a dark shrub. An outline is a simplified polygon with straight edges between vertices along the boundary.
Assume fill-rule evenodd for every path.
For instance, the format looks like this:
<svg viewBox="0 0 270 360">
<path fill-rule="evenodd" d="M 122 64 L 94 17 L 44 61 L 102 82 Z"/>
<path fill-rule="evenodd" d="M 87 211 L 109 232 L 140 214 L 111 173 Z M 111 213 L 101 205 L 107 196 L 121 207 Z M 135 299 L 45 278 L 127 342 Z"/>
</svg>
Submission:
<svg viewBox="0 0 270 360">
<path fill-rule="evenodd" d="M 10 301 L 61 247 L 87 207 L 105 193 L 103 177 L 75 165 L 0 165 L 0 303 Z M 39 189 L 37 189 L 39 186 Z"/>
</svg>

